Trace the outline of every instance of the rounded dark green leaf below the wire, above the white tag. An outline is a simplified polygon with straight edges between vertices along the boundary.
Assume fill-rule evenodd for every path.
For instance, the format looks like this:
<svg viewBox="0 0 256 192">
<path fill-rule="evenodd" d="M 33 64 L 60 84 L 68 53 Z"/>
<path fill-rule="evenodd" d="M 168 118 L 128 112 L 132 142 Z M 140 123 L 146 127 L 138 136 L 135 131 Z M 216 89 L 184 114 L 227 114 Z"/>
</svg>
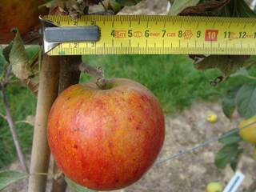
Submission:
<svg viewBox="0 0 256 192">
<path fill-rule="evenodd" d="M 238 143 L 223 146 L 221 150 L 215 154 L 214 164 L 218 169 L 225 169 L 226 166 L 235 158 L 239 158 L 241 149 Z"/>
</svg>

